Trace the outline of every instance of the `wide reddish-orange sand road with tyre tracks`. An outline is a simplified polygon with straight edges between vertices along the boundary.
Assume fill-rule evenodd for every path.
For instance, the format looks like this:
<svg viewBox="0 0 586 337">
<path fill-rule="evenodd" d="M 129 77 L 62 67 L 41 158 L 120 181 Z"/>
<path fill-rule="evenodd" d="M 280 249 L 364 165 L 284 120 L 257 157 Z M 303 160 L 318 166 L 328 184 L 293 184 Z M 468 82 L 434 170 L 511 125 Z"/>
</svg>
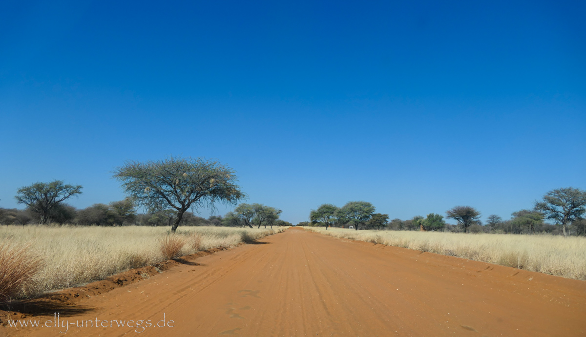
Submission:
<svg viewBox="0 0 586 337">
<path fill-rule="evenodd" d="M 301 229 L 261 243 L 84 301 L 92 311 L 60 317 L 67 335 L 134 334 L 143 328 L 113 320 L 156 325 L 164 313 L 172 327 L 141 335 L 586 336 L 584 281 Z M 76 326 L 96 317 L 107 327 Z M 0 330 L 63 336 L 66 328 Z"/>
</svg>

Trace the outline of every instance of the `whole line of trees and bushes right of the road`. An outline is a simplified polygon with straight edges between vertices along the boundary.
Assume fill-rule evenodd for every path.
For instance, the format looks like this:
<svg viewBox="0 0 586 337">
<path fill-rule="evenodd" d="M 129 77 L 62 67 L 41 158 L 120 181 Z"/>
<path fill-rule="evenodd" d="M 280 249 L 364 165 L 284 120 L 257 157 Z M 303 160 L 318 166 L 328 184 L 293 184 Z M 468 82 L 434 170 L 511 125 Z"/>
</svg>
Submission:
<svg viewBox="0 0 586 337">
<path fill-rule="evenodd" d="M 309 221 L 298 226 L 330 226 L 354 229 L 391 229 L 394 231 L 447 231 L 466 233 L 554 233 L 586 235 L 586 191 L 580 188 L 557 188 L 547 192 L 532 209 L 513 212 L 510 219 L 491 214 L 486 223 L 481 221 L 481 212 L 470 206 L 456 206 L 445 213 L 445 218 L 457 225 L 445 222 L 441 214 L 414 216 L 408 220 L 393 219 L 388 214 L 375 213 L 370 202 L 351 201 L 343 207 L 323 204 L 309 212 Z M 546 222 L 553 221 L 554 224 Z"/>
</svg>

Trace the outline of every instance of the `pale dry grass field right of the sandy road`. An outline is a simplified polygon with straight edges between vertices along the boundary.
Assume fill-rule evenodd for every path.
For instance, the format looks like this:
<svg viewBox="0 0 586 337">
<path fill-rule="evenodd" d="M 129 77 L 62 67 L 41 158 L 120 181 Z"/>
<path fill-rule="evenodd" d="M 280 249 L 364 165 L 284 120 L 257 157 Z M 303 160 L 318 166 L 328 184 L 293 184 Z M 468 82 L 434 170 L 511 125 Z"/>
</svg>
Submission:
<svg viewBox="0 0 586 337">
<path fill-rule="evenodd" d="M 355 231 L 306 227 L 325 235 L 464 257 L 556 276 L 586 280 L 586 238 L 552 235 Z"/>
</svg>

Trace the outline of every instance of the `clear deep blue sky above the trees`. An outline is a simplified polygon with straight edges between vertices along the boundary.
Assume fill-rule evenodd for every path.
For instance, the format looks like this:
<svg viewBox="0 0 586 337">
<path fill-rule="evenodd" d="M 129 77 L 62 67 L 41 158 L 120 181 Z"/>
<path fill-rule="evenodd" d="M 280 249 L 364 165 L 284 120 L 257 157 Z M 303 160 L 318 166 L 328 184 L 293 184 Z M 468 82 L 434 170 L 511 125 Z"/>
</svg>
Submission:
<svg viewBox="0 0 586 337">
<path fill-rule="evenodd" d="M 586 188 L 586 2 L 194 3 L 0 3 L 0 207 L 54 179 L 121 200 L 115 166 L 169 154 L 294 223 Z"/>
</svg>

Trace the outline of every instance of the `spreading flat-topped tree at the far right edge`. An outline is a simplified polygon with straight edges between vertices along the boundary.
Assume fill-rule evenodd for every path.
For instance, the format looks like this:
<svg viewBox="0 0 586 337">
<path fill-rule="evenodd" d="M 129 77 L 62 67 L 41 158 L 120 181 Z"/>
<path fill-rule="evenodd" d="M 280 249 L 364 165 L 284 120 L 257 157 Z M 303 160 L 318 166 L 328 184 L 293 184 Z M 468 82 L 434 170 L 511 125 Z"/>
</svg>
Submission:
<svg viewBox="0 0 586 337">
<path fill-rule="evenodd" d="M 561 225 L 564 236 L 567 236 L 568 223 L 581 219 L 586 212 L 586 191 L 580 188 L 558 188 L 543 196 L 542 201 L 535 203 L 535 210 L 542 212 L 547 219 Z"/>
</svg>

